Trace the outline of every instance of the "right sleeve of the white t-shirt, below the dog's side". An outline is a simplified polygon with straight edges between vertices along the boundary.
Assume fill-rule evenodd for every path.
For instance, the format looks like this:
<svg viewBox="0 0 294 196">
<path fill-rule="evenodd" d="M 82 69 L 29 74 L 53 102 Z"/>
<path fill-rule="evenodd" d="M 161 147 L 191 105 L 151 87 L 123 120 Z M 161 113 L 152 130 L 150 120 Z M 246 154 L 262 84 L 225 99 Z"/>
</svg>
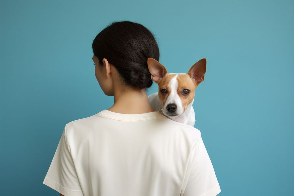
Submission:
<svg viewBox="0 0 294 196">
<path fill-rule="evenodd" d="M 191 153 L 190 163 L 193 164 L 183 196 L 218 195 L 220 193 L 220 185 L 201 137 L 193 146 Z"/>
</svg>

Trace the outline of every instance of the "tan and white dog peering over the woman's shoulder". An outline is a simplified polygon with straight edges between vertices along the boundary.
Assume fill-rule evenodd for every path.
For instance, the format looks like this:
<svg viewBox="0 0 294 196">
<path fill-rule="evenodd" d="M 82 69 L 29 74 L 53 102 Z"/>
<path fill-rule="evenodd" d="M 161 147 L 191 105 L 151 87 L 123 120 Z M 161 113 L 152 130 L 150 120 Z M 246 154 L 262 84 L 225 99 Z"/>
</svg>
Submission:
<svg viewBox="0 0 294 196">
<path fill-rule="evenodd" d="M 194 127 L 193 102 L 196 87 L 204 81 L 206 58 L 197 61 L 188 73 L 168 73 L 154 58 L 148 58 L 151 79 L 158 84 L 158 92 L 148 96 L 151 107 L 171 120 Z"/>
</svg>

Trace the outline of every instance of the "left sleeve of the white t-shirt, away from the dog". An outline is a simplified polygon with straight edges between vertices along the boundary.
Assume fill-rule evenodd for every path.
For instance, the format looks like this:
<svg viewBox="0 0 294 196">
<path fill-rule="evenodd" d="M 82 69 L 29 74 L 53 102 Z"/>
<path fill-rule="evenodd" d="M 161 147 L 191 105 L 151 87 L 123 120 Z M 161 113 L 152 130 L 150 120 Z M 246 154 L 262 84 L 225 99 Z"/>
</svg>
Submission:
<svg viewBox="0 0 294 196">
<path fill-rule="evenodd" d="M 65 196 L 83 196 L 76 169 L 66 141 L 66 126 L 43 181 L 44 185 Z"/>
</svg>

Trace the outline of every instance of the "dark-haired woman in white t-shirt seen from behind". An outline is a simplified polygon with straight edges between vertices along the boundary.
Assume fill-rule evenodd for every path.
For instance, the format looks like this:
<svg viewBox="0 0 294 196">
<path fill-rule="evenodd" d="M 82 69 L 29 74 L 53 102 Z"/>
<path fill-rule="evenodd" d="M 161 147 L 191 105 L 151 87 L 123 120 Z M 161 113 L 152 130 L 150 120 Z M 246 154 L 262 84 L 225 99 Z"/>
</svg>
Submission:
<svg viewBox="0 0 294 196">
<path fill-rule="evenodd" d="M 44 184 L 61 195 L 217 195 L 220 186 L 198 129 L 151 108 L 147 58 L 153 34 L 117 21 L 93 40 L 95 75 L 114 96 L 107 110 L 65 125 Z"/>
</svg>

